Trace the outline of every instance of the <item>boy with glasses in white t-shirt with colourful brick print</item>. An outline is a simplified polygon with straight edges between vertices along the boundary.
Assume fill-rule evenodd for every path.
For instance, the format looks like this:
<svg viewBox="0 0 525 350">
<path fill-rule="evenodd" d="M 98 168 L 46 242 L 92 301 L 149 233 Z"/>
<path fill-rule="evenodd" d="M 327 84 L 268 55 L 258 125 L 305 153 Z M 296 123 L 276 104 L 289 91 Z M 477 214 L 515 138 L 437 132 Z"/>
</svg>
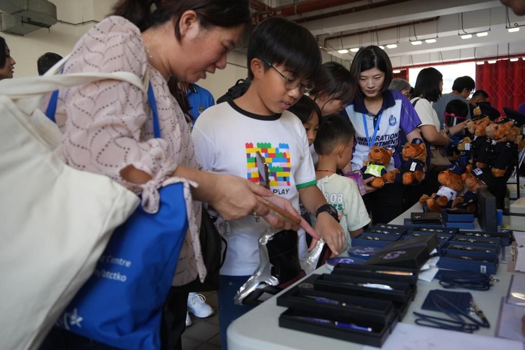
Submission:
<svg viewBox="0 0 525 350">
<path fill-rule="evenodd" d="M 248 44 L 246 93 L 204 111 L 192 136 L 197 161 L 204 169 L 246 177 L 259 182 L 255 154 L 269 165 L 270 188 L 299 210 L 299 198 L 317 215 L 317 233 L 338 254 L 344 246 L 344 230 L 337 210 L 328 205 L 319 190 L 306 132 L 294 114 L 287 111 L 304 92 L 313 88 L 311 79 L 321 66 L 316 39 L 299 25 L 269 18 L 259 23 Z M 258 238 L 270 228 L 257 217 L 229 221 L 226 258 L 220 269 L 219 326 L 222 348 L 226 328 L 255 305 L 235 305 L 234 296 L 259 264 Z M 315 240 L 312 242 L 316 243 Z M 304 232 L 299 232 L 299 254 L 306 255 Z"/>
</svg>

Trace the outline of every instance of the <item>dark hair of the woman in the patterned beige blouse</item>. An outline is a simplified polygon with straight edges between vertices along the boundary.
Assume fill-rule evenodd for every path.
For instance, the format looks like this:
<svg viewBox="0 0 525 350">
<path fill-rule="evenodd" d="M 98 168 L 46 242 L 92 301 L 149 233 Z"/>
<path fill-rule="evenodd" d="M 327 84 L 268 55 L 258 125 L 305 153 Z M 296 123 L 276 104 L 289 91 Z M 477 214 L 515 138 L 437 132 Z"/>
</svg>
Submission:
<svg viewBox="0 0 525 350">
<path fill-rule="evenodd" d="M 153 4 L 156 8 L 151 12 Z M 195 11 L 203 28 L 232 28 L 249 25 L 251 21 L 248 0 L 120 0 L 113 6 L 112 15 L 128 19 L 140 31 L 177 18 L 175 37 L 180 40 L 178 24 L 187 10 Z"/>
</svg>

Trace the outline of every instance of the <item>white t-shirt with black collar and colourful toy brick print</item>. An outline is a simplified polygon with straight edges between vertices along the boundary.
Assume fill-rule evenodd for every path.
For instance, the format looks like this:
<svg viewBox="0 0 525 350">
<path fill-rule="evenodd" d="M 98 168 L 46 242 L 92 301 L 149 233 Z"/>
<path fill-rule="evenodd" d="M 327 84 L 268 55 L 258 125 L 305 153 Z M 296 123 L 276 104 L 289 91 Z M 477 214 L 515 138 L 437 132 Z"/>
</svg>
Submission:
<svg viewBox="0 0 525 350">
<path fill-rule="evenodd" d="M 317 184 L 306 132 L 295 114 L 258 115 L 233 101 L 206 109 L 193 127 L 197 161 L 205 170 L 233 174 L 258 183 L 255 152 L 266 158 L 270 188 L 299 211 L 298 188 Z M 258 240 L 270 225 L 253 216 L 229 221 L 228 248 L 220 274 L 252 274 L 259 264 Z M 307 253 L 304 231 L 299 231 L 299 254 Z"/>
</svg>

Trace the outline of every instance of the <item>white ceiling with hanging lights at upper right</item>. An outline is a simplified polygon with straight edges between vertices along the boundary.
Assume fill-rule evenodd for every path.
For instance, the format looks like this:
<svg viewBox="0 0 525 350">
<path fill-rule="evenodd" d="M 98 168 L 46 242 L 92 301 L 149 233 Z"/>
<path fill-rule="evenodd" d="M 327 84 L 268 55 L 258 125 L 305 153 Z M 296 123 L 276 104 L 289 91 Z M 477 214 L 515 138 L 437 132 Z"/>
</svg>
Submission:
<svg viewBox="0 0 525 350">
<path fill-rule="evenodd" d="M 296 6 L 301 3 L 295 2 Z M 292 1 L 265 1 L 272 7 L 289 5 Z M 481 60 L 487 57 L 525 55 L 525 27 L 516 33 L 509 33 L 509 22 L 525 25 L 525 16 L 514 15 L 499 0 L 375 0 L 358 1 L 326 8 L 317 1 L 321 9 L 290 16 L 290 19 L 332 13 L 328 18 L 307 20 L 300 24 L 318 38 L 325 51 L 332 57 L 351 61 L 354 53 L 339 54 L 339 49 L 350 49 L 367 45 L 396 44 L 393 49 L 385 48 L 394 67 L 424 65 L 427 63 Z M 362 5 L 380 7 L 362 10 Z M 338 10 L 358 7 L 358 12 L 337 14 Z M 463 28 L 461 15 L 463 15 Z M 417 22 L 423 23 L 417 23 Z M 382 27 L 391 29 L 381 30 Z M 378 30 L 379 29 L 379 30 Z M 461 39 L 458 34 L 487 31 L 487 36 Z M 362 33 L 348 36 L 352 33 Z M 436 38 L 433 44 L 414 46 L 411 41 Z M 327 57 L 327 56 L 325 56 Z"/>
</svg>

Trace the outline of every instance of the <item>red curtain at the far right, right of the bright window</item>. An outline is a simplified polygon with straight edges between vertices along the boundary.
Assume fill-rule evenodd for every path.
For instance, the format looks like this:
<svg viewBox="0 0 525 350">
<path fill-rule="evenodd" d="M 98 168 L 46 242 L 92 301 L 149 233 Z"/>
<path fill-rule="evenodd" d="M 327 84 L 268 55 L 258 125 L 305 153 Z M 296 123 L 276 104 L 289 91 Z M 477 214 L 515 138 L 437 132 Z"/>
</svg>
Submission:
<svg viewBox="0 0 525 350">
<path fill-rule="evenodd" d="M 476 90 L 485 90 L 492 107 L 503 113 L 503 107 L 513 110 L 525 102 L 525 61 L 498 60 L 476 65 Z"/>
</svg>

